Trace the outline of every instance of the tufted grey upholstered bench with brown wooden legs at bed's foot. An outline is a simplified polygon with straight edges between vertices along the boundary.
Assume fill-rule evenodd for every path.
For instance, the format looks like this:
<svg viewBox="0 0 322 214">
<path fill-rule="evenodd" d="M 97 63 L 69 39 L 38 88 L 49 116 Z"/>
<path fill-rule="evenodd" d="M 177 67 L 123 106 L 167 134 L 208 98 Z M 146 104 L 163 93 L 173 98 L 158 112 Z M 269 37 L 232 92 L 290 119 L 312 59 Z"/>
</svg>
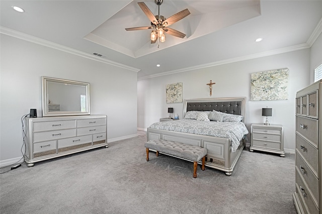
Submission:
<svg viewBox="0 0 322 214">
<path fill-rule="evenodd" d="M 150 140 L 144 146 L 146 148 L 146 161 L 149 161 L 149 149 L 151 149 L 156 151 L 156 156 L 160 152 L 180 159 L 193 161 L 194 178 L 197 177 L 197 161 L 202 159 L 201 169 L 205 170 L 205 157 L 207 155 L 207 149 L 205 148 L 162 139 Z"/>
</svg>

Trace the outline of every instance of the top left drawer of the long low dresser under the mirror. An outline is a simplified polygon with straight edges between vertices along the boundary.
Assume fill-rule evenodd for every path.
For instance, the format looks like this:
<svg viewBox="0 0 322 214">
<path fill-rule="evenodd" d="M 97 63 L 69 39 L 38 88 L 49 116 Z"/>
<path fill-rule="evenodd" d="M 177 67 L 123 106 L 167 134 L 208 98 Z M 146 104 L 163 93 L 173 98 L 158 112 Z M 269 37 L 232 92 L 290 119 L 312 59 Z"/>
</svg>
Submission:
<svg viewBox="0 0 322 214">
<path fill-rule="evenodd" d="M 76 128 L 76 121 L 50 121 L 50 122 L 34 122 L 33 131 L 43 132 L 43 131 L 53 131 L 59 129 L 73 129 Z"/>
</svg>

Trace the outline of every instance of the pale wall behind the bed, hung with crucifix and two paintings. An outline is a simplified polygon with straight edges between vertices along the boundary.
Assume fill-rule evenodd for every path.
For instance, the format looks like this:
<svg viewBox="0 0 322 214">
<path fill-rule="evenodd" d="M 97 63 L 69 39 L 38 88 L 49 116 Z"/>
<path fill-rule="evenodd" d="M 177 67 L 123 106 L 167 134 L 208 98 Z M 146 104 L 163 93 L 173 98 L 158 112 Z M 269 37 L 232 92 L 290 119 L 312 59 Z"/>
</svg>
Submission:
<svg viewBox="0 0 322 214">
<path fill-rule="evenodd" d="M 289 95 L 287 100 L 250 101 L 251 73 L 272 69 L 289 69 Z M 264 123 L 262 108 L 273 109 L 271 124 L 284 127 L 284 148 L 294 152 L 295 145 L 295 94 L 310 82 L 310 49 L 293 51 L 252 60 L 234 62 L 177 74 L 138 80 L 138 128 L 146 129 L 159 118 L 168 117 L 167 108 L 183 117 L 183 103 L 166 103 L 166 84 L 183 82 L 184 99 L 208 98 L 210 80 L 212 97 L 246 96 L 247 127 Z"/>
</svg>

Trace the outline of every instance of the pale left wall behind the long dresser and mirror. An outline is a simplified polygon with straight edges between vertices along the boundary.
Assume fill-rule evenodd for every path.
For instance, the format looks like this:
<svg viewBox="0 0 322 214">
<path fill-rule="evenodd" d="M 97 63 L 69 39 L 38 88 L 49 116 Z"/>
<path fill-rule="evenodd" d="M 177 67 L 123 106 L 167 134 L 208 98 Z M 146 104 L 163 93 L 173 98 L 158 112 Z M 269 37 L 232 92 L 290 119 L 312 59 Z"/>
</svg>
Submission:
<svg viewBox="0 0 322 214">
<path fill-rule="evenodd" d="M 42 115 L 41 76 L 89 82 L 91 114 L 107 115 L 108 142 L 137 135 L 137 72 L 1 34 L 0 164 L 22 157 L 21 117 Z"/>
</svg>

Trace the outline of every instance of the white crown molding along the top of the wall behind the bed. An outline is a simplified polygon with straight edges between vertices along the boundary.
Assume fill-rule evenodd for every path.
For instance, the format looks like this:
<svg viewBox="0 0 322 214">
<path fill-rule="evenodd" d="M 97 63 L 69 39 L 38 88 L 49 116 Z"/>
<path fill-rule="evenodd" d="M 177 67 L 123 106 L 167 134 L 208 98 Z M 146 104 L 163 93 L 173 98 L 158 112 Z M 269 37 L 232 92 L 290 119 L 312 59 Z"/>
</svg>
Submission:
<svg viewBox="0 0 322 214">
<path fill-rule="evenodd" d="M 291 46 L 291 47 L 287 47 L 287 48 L 281 48 L 281 49 L 276 49 L 276 50 L 272 50 L 272 51 L 266 51 L 266 52 L 262 52 L 262 53 L 251 54 L 251 55 L 247 55 L 247 56 L 241 56 L 241 57 L 211 62 L 211 63 L 197 65 L 197 66 L 181 68 L 181 69 L 172 70 L 172 71 L 168 71 L 168 72 L 138 77 L 137 80 L 149 79 L 149 78 L 158 77 L 158 76 L 165 76 L 165 75 L 169 75 L 169 74 L 176 74 L 176 73 L 181 73 L 181 72 L 186 72 L 186 71 L 191 71 L 191 70 L 197 70 L 197 69 L 202 69 L 202 68 L 207 68 L 207 67 L 229 64 L 229 63 L 233 63 L 233 62 L 240 62 L 240 61 L 245 61 L 245 60 L 250 60 L 250 59 L 261 58 L 261 57 L 265 57 L 265 56 L 272 56 L 272 55 L 276 55 L 276 54 L 282 54 L 282 53 L 302 50 L 302 49 L 306 49 L 306 48 L 310 48 L 310 46 L 307 44 L 295 45 L 295 46 Z"/>
</svg>

